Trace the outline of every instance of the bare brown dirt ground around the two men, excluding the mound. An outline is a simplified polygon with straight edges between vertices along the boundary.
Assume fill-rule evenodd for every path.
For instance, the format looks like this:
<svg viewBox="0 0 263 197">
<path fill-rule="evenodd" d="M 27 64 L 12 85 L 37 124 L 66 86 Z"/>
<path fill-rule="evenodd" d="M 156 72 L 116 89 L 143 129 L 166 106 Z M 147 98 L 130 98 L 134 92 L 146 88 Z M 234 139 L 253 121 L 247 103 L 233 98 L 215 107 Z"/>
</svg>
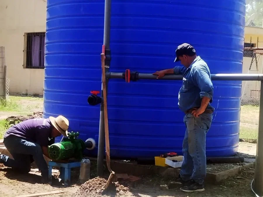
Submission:
<svg viewBox="0 0 263 197">
<path fill-rule="evenodd" d="M 256 144 L 240 142 L 239 151 L 242 154 L 249 154 L 254 156 L 256 153 Z M 96 165 L 94 165 L 96 168 Z M 208 166 L 209 167 L 209 166 Z M 94 168 L 94 167 L 92 167 Z M 160 185 L 169 184 L 170 179 L 164 179 L 162 177 L 152 175 L 149 177 L 142 177 L 142 179 L 136 184 L 123 184 L 130 188 L 129 192 L 118 193 L 117 196 L 123 197 L 203 197 L 203 196 L 253 196 L 250 190 L 250 183 L 253 179 L 254 168 L 249 168 L 242 171 L 239 175 L 233 178 L 226 179 L 220 184 L 205 184 L 205 191 L 200 193 L 184 193 L 180 191 L 179 187 L 170 190 L 161 190 Z M 58 177 L 58 173 L 53 173 L 55 177 Z M 94 175 L 94 173 L 93 173 Z M 61 183 L 58 183 L 58 179 L 55 180 L 54 185 L 41 184 L 40 173 L 31 171 L 26 175 L 19 175 L 16 172 L 12 172 L 10 168 L 0 169 L 0 196 L 14 197 L 18 195 L 41 193 L 49 191 L 61 190 L 63 193 L 48 195 L 50 197 L 63 196 L 73 197 L 79 189 L 77 182 L 77 172 L 72 172 L 72 186 L 64 188 Z M 92 178 L 92 177 L 91 177 Z M 115 195 L 111 195 L 115 196 Z"/>
</svg>

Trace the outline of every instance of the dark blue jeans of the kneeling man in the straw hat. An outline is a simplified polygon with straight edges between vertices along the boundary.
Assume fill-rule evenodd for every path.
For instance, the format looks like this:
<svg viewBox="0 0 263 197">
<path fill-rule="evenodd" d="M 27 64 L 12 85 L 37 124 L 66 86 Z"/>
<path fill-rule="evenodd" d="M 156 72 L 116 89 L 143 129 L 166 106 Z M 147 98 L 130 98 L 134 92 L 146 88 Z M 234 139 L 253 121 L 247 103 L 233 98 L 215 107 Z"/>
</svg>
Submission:
<svg viewBox="0 0 263 197">
<path fill-rule="evenodd" d="M 14 159 L 6 155 L 1 155 L 2 163 L 6 167 L 13 168 L 22 173 L 28 173 L 31 170 L 31 163 L 36 162 L 43 177 L 48 177 L 48 166 L 43 156 L 39 144 L 23 140 L 16 136 L 4 138 L 4 145 Z"/>
</svg>

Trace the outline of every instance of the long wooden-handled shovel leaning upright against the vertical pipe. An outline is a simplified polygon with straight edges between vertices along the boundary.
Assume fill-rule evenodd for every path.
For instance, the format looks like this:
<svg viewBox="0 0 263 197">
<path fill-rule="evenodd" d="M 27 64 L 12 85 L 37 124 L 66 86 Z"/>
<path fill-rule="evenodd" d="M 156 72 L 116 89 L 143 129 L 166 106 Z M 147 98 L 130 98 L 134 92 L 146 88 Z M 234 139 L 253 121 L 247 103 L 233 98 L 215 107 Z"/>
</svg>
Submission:
<svg viewBox="0 0 263 197">
<path fill-rule="evenodd" d="M 107 110 L 107 93 L 106 93 L 106 77 L 105 77 L 105 54 L 101 53 L 101 69 L 102 69 L 102 86 L 103 86 L 103 105 L 104 105 L 104 125 L 105 125 L 105 147 L 106 147 L 106 162 L 110 176 L 105 185 L 105 189 L 108 188 L 110 183 L 116 180 L 115 172 L 110 168 L 110 142 L 109 142 L 109 125 L 108 125 L 108 110 Z"/>
</svg>

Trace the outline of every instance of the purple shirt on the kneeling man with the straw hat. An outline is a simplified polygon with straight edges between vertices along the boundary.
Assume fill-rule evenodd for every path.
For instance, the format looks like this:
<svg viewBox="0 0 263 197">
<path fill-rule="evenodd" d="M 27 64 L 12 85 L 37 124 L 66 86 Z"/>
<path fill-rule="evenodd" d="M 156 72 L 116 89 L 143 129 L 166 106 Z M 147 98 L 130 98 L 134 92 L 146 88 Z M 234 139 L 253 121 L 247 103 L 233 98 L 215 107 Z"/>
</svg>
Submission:
<svg viewBox="0 0 263 197">
<path fill-rule="evenodd" d="M 49 118 L 34 118 L 23 121 L 10 127 L 4 137 L 17 136 L 30 142 L 35 142 L 42 147 L 47 147 L 51 135 Z"/>
</svg>

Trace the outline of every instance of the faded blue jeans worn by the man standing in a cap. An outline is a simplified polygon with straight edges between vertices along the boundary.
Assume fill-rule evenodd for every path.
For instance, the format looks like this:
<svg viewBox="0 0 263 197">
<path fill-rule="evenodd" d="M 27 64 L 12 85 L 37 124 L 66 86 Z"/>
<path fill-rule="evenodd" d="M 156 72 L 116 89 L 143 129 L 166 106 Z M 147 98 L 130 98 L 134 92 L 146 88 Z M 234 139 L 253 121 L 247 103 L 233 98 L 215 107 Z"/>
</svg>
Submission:
<svg viewBox="0 0 263 197">
<path fill-rule="evenodd" d="M 183 140 L 184 162 L 180 177 L 187 181 L 193 179 L 203 184 L 206 176 L 206 133 L 212 123 L 212 114 L 203 113 L 198 118 L 188 113 L 184 116 L 186 132 Z"/>
</svg>

